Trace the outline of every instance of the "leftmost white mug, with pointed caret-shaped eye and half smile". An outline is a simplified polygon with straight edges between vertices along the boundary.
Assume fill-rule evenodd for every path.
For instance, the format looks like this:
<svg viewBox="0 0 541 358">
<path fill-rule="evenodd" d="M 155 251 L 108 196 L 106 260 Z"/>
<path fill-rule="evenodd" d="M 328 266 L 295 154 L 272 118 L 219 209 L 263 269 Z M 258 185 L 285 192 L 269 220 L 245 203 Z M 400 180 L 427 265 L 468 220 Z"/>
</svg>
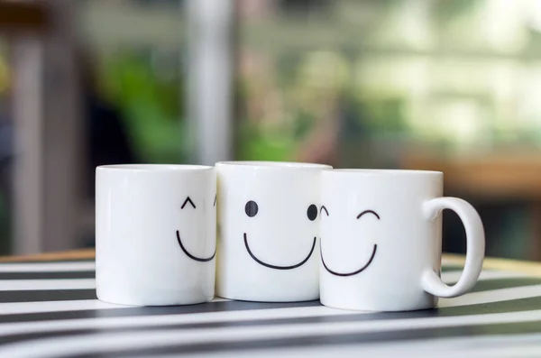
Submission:
<svg viewBox="0 0 541 358">
<path fill-rule="evenodd" d="M 96 294 L 111 303 L 202 303 L 215 289 L 215 170 L 96 169 Z"/>
</svg>

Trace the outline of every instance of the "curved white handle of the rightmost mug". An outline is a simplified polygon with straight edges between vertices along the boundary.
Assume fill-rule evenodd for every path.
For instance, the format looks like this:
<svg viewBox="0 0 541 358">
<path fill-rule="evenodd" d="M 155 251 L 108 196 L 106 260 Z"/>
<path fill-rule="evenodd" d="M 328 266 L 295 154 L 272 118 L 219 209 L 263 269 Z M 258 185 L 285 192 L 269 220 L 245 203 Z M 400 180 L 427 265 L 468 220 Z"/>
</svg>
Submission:
<svg viewBox="0 0 541 358">
<path fill-rule="evenodd" d="M 479 279 L 484 259 L 485 237 L 481 217 L 467 201 L 457 197 L 436 197 L 423 204 L 423 213 L 428 220 L 436 220 L 444 209 L 453 210 L 462 220 L 466 231 L 464 270 L 454 286 L 447 286 L 434 270 L 427 270 L 423 273 L 421 285 L 431 295 L 453 298 L 472 289 Z"/>
</svg>

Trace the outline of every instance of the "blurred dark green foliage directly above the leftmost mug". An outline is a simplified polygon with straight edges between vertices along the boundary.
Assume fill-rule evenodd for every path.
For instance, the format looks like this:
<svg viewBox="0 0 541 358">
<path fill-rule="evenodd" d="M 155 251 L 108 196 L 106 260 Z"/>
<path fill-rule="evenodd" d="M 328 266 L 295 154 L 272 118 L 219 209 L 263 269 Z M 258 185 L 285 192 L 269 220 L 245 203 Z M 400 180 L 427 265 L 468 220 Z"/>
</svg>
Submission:
<svg viewBox="0 0 541 358">
<path fill-rule="evenodd" d="M 182 138 L 188 135 L 184 115 L 182 79 L 158 78 L 149 60 L 131 53 L 105 63 L 107 95 L 120 106 L 142 161 L 183 162 L 188 152 Z"/>
</svg>

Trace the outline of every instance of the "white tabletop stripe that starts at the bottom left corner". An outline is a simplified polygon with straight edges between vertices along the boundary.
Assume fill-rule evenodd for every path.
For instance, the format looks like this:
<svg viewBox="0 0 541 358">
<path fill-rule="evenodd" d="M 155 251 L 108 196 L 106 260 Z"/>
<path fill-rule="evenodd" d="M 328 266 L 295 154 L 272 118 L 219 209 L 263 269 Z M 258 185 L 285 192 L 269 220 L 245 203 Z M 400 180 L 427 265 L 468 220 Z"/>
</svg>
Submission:
<svg viewBox="0 0 541 358">
<path fill-rule="evenodd" d="M 205 353 L 219 349 L 255 350 L 278 346 L 329 345 L 347 343 L 392 342 L 393 340 L 421 339 L 509 332 L 537 333 L 541 326 L 541 310 L 530 312 L 472 315 L 469 317 L 426 317 L 316 324 L 257 327 L 213 327 L 207 329 L 156 329 L 138 332 L 96 333 L 32 340 L 32 344 L 5 344 L 2 356 L 24 357 L 80 357 L 106 353 L 152 353 L 173 349 L 177 353 Z M 522 328 L 518 329 L 518 325 Z M 505 325 L 508 325 L 505 327 Z M 504 326 L 503 329 L 500 327 Z M 498 329 L 500 328 L 500 329 Z M 477 331 L 476 331 L 477 329 Z M 489 331 L 487 331 L 489 330 Z M 430 333 L 432 332 L 432 333 Z M 158 353 L 158 352 L 156 352 Z M 168 353 L 168 352 L 165 352 Z"/>
</svg>

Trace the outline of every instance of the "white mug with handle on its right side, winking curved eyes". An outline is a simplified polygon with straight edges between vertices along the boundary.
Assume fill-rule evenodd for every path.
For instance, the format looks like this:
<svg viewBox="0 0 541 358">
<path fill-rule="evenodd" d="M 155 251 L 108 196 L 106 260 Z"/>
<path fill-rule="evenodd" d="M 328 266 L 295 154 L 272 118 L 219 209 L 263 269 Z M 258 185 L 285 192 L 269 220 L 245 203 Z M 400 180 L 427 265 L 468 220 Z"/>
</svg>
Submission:
<svg viewBox="0 0 541 358">
<path fill-rule="evenodd" d="M 472 289 L 484 258 L 481 218 L 463 199 L 442 197 L 443 182 L 437 171 L 324 171 L 321 303 L 353 310 L 416 310 Z M 443 209 L 453 210 L 466 232 L 466 261 L 454 286 L 440 278 Z"/>
</svg>

